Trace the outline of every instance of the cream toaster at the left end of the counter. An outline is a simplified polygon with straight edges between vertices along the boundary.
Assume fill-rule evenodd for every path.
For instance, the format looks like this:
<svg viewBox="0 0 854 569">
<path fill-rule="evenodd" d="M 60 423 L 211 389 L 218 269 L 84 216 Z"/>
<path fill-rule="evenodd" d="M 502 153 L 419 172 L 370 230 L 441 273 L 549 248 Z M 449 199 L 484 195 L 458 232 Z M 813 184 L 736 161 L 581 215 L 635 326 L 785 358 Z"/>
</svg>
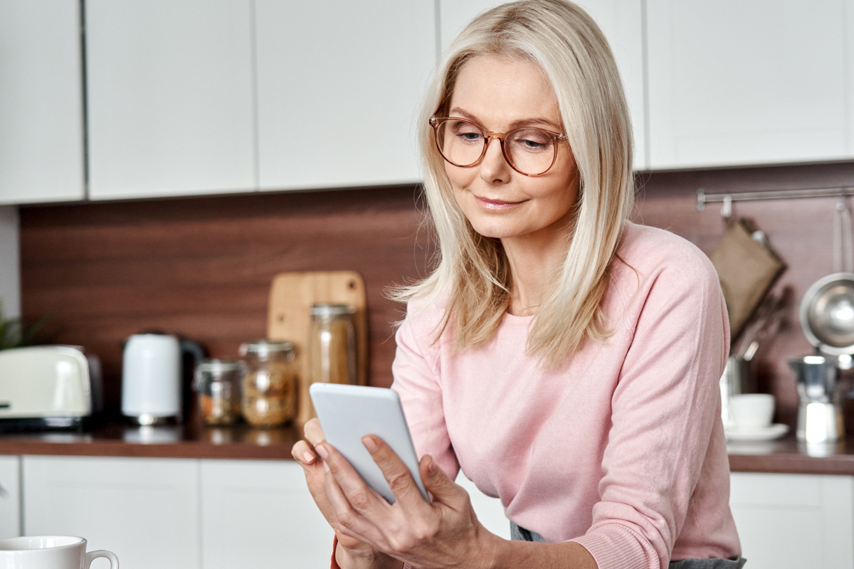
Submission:
<svg viewBox="0 0 854 569">
<path fill-rule="evenodd" d="M 82 351 L 69 345 L 0 351 L 0 431 L 78 428 L 91 412 Z"/>
</svg>

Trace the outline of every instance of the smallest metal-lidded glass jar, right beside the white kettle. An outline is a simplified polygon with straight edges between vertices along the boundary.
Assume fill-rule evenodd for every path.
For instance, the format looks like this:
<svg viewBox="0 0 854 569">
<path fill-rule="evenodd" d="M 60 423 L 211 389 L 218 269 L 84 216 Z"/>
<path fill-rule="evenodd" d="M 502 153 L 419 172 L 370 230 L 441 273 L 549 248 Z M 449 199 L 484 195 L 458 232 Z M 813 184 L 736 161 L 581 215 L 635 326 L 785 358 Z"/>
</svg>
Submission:
<svg viewBox="0 0 854 569">
<path fill-rule="evenodd" d="M 242 376 L 243 363 L 238 360 L 204 359 L 196 366 L 193 386 L 208 425 L 231 425 L 237 421 Z"/>
</svg>

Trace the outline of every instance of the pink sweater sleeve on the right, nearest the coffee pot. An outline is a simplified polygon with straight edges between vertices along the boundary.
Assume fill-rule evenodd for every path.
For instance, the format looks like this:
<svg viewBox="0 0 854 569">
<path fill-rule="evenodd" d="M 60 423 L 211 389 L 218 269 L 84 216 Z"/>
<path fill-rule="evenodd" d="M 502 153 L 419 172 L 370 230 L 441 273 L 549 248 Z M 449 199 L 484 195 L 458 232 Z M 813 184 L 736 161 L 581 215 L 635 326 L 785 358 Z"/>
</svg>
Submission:
<svg viewBox="0 0 854 569">
<path fill-rule="evenodd" d="M 574 540 L 600 569 L 668 566 L 720 420 L 729 333 L 717 274 L 699 251 L 672 261 L 640 285 L 611 398 L 600 501 Z"/>
</svg>

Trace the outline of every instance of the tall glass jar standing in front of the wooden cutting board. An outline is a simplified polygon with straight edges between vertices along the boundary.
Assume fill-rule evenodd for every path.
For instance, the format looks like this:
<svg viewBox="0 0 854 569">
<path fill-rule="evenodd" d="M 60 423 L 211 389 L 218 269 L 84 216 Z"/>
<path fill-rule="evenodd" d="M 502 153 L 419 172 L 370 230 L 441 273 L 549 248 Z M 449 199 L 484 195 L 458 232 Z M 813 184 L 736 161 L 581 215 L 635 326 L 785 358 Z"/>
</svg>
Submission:
<svg viewBox="0 0 854 569">
<path fill-rule="evenodd" d="M 312 383 L 358 383 L 353 325 L 355 311 L 350 305 L 312 306 L 312 325 L 308 335 Z"/>
</svg>

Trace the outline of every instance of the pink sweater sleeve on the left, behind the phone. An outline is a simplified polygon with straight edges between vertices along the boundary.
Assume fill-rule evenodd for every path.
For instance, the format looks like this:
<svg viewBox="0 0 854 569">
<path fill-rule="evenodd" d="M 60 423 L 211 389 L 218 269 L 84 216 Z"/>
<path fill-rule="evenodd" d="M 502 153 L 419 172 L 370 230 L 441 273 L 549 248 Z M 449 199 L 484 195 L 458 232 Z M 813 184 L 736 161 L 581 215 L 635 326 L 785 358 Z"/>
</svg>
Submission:
<svg viewBox="0 0 854 569">
<path fill-rule="evenodd" d="M 401 396 L 409 433 L 418 459 L 430 455 L 450 479 L 459 473 L 459 462 L 447 434 L 439 383 L 439 340 L 436 322 L 439 309 L 407 311 L 407 319 L 395 334 L 397 351 L 392 363 L 391 388 Z"/>
</svg>

